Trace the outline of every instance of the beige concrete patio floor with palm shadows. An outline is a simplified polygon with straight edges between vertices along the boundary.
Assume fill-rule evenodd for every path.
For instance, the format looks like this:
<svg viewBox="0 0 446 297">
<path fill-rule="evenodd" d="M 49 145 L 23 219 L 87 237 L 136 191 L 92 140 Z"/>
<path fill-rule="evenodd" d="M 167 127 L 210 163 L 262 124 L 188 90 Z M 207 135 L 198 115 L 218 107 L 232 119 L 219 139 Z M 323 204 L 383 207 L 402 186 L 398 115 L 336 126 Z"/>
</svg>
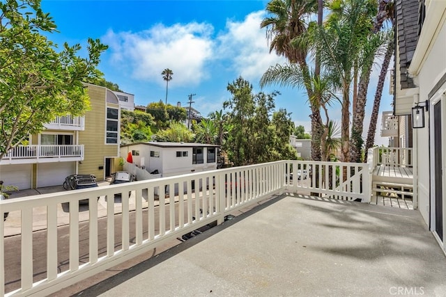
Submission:
<svg viewBox="0 0 446 297">
<path fill-rule="evenodd" d="M 418 211 L 285 194 L 82 296 L 446 296 Z"/>
</svg>

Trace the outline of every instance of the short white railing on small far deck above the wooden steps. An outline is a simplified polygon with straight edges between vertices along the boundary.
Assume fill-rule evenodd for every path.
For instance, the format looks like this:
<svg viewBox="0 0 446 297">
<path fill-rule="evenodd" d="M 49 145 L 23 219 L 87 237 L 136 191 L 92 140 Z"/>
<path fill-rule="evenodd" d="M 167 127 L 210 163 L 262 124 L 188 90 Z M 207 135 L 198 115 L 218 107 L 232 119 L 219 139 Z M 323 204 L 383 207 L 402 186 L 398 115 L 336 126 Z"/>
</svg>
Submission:
<svg viewBox="0 0 446 297">
<path fill-rule="evenodd" d="M 413 167 L 413 150 L 411 147 L 372 147 L 367 159 L 371 170 L 378 165 Z"/>
</svg>

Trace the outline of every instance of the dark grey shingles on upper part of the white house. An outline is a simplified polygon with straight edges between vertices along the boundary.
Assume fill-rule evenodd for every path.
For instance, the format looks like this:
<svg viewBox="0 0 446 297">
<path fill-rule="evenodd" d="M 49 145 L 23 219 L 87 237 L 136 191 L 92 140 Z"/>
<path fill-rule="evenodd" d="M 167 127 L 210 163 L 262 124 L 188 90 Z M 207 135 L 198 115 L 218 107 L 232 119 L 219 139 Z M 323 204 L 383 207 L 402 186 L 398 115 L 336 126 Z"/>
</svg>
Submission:
<svg viewBox="0 0 446 297">
<path fill-rule="evenodd" d="M 419 0 L 397 0 L 396 22 L 399 47 L 399 70 L 401 71 L 401 89 L 415 88 L 408 77 L 407 69 L 413 58 L 418 41 Z"/>
</svg>

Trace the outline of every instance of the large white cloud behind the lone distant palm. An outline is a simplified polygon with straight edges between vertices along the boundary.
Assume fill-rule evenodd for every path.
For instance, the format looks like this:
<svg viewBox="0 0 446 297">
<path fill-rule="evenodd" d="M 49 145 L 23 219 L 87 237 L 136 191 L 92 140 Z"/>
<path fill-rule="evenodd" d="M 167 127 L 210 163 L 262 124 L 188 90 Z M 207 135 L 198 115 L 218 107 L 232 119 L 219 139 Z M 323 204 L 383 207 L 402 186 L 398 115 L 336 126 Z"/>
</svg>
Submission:
<svg viewBox="0 0 446 297">
<path fill-rule="evenodd" d="M 161 72 L 174 72 L 176 86 L 197 85 L 207 76 L 204 65 L 213 56 L 210 24 L 157 24 L 137 33 L 107 32 L 104 42 L 112 51 L 112 61 L 134 79 L 164 85 Z"/>
</svg>

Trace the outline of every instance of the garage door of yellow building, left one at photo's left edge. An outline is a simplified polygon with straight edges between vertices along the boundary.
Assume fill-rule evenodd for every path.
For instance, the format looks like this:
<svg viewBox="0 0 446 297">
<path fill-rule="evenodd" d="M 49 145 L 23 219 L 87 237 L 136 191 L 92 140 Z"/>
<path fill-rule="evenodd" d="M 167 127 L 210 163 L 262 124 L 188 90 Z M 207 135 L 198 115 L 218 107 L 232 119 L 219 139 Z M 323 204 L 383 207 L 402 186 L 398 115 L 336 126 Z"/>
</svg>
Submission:
<svg viewBox="0 0 446 297">
<path fill-rule="evenodd" d="M 0 166 L 0 180 L 6 186 L 17 186 L 19 190 L 31 188 L 31 164 L 15 164 Z"/>
</svg>

